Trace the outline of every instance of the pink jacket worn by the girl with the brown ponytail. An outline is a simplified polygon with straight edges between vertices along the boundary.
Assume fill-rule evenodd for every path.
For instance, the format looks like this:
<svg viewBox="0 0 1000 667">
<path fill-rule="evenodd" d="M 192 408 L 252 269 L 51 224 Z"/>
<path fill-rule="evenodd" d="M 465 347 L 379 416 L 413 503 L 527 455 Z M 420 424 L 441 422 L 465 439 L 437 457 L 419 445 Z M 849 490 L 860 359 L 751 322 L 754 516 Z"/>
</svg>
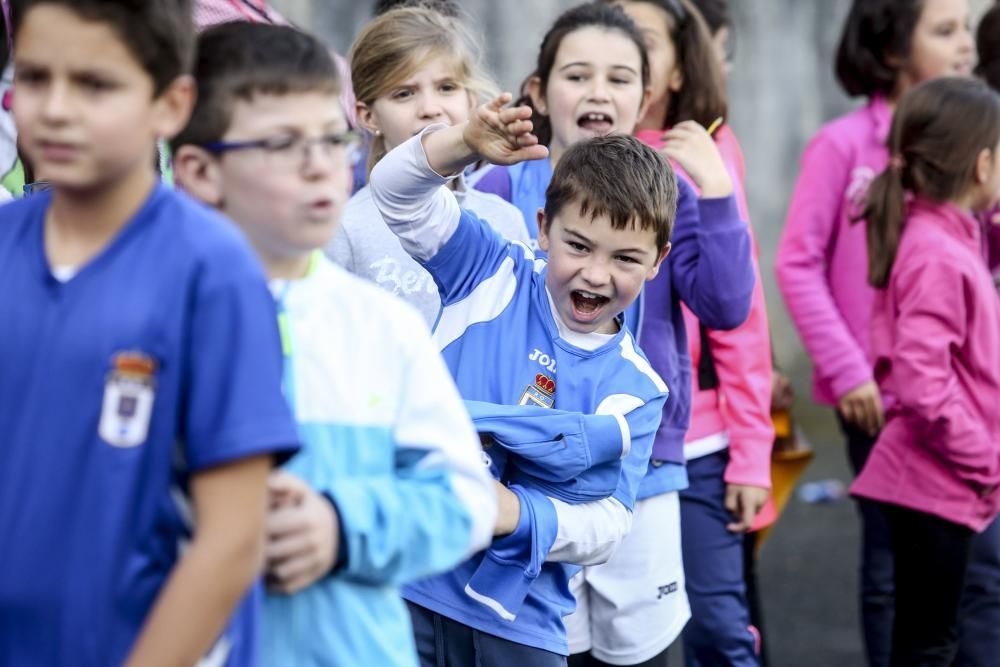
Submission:
<svg viewBox="0 0 1000 667">
<path fill-rule="evenodd" d="M 910 204 L 872 317 L 875 375 L 893 400 L 851 486 L 976 531 L 1000 510 L 1000 299 L 981 234 L 955 206 Z"/>
</svg>

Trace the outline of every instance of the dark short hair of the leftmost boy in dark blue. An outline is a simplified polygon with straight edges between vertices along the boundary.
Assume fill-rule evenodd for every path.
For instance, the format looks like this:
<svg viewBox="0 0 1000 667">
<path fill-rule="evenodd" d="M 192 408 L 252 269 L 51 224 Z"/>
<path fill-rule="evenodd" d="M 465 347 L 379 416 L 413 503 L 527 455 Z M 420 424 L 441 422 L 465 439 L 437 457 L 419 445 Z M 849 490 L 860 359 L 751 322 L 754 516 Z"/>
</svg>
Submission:
<svg viewBox="0 0 1000 667">
<path fill-rule="evenodd" d="M 111 26 L 153 79 L 157 96 L 191 70 L 195 42 L 191 0 L 17 0 L 11 6 L 12 34 L 16 36 L 28 13 L 42 5 L 65 7 L 84 20 Z"/>
</svg>

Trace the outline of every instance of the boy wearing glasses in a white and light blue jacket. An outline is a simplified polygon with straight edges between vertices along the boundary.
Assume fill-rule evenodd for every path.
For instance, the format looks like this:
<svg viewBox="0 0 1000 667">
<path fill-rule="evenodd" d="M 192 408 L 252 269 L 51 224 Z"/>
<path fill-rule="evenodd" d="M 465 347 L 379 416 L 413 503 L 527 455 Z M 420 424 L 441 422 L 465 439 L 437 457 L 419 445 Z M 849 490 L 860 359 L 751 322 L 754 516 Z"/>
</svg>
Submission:
<svg viewBox="0 0 1000 667">
<path fill-rule="evenodd" d="M 479 440 L 415 310 L 321 249 L 350 192 L 336 66 L 292 28 L 206 31 L 178 182 L 250 238 L 271 279 L 302 452 L 272 476 L 263 662 L 416 665 L 398 587 L 492 536 Z"/>
</svg>

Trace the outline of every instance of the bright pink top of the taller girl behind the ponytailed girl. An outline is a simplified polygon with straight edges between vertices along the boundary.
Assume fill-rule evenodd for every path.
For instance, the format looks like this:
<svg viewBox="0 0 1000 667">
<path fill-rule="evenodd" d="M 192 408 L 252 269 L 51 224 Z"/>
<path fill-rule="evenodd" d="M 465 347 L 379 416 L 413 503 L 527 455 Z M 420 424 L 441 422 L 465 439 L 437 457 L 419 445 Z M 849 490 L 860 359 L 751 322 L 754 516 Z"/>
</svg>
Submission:
<svg viewBox="0 0 1000 667">
<path fill-rule="evenodd" d="M 872 379 L 867 242 L 851 219 L 889 162 L 891 123 L 889 105 L 874 97 L 816 134 L 778 245 L 778 288 L 815 367 L 814 397 L 828 405 Z"/>
</svg>

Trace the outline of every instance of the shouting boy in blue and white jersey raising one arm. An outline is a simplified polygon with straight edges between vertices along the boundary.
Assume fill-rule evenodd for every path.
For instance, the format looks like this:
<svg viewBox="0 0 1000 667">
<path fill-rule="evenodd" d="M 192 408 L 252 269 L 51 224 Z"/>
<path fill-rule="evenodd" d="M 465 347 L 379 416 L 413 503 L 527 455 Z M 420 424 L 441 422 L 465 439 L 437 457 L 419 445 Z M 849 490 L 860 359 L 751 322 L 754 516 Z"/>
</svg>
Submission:
<svg viewBox="0 0 1000 667">
<path fill-rule="evenodd" d="M 480 159 L 547 155 L 531 134 L 530 109 L 503 108 L 509 99 L 465 124 L 428 128 L 371 179 L 385 221 L 438 284 L 435 337 L 459 390 L 477 411 L 494 405 L 480 422 L 496 435 L 485 455 L 505 459 L 493 466 L 502 481 L 491 549 L 404 589 L 425 665 L 565 664 L 563 616 L 575 604 L 569 579 L 579 565 L 607 560 L 628 532 L 667 396 L 621 313 L 670 249 L 670 165 L 631 137 L 571 148 L 540 219 L 548 261 L 538 258 L 440 187 Z M 572 460 L 574 449 L 603 469 L 553 484 L 553 462 Z M 607 497 L 593 497 L 605 472 L 614 475 Z"/>
</svg>

